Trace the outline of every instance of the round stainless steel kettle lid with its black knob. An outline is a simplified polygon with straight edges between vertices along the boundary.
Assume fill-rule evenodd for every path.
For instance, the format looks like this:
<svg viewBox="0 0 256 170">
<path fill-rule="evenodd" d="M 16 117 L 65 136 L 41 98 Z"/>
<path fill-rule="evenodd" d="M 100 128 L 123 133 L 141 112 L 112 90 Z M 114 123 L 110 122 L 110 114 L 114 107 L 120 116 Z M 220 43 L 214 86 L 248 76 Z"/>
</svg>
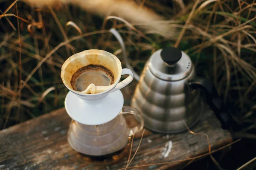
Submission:
<svg viewBox="0 0 256 170">
<path fill-rule="evenodd" d="M 190 57 L 178 48 L 160 49 L 149 59 L 150 71 L 159 79 L 177 81 L 187 77 L 192 71 Z"/>
</svg>

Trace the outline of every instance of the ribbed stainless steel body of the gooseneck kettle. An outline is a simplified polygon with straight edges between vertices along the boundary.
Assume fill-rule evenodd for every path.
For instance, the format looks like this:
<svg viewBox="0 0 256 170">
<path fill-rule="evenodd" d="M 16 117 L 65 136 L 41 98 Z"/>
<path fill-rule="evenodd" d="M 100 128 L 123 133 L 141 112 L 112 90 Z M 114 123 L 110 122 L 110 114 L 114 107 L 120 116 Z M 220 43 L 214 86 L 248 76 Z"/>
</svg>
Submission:
<svg viewBox="0 0 256 170">
<path fill-rule="evenodd" d="M 158 50 L 153 55 L 159 56 L 161 51 Z M 159 133 L 181 132 L 186 130 L 186 125 L 195 125 L 203 111 L 204 102 L 200 91 L 190 91 L 188 85 L 196 77 L 195 67 L 183 51 L 182 57 L 186 57 L 184 67 L 187 70 L 183 72 L 186 75 L 182 75 L 180 79 L 166 80 L 155 76 L 149 67 L 150 60 L 140 75 L 131 105 L 142 111 L 145 127 L 150 130 Z"/>
</svg>

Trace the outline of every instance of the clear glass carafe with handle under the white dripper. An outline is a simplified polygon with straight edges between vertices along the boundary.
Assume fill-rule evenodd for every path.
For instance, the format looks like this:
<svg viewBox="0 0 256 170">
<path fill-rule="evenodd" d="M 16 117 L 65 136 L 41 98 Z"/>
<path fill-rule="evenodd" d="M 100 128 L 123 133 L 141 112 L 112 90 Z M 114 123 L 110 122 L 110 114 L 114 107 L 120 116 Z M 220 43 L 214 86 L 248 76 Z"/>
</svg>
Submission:
<svg viewBox="0 0 256 170">
<path fill-rule="evenodd" d="M 131 116 L 135 119 L 131 120 Z M 126 117 L 137 125 L 129 127 Z M 124 106 L 116 118 L 102 125 L 84 125 L 72 120 L 68 142 L 90 163 L 111 163 L 122 158 L 130 146 L 130 136 L 142 130 L 143 126 L 140 111 Z"/>
</svg>

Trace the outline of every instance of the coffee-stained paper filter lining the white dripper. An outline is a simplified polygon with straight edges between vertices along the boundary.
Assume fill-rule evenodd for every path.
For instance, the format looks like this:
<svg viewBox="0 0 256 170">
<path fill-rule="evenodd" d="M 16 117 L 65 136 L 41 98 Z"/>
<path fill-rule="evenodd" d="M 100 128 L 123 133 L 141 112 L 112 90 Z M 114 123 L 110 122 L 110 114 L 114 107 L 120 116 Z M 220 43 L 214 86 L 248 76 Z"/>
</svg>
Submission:
<svg viewBox="0 0 256 170">
<path fill-rule="evenodd" d="M 119 77 L 122 73 L 122 66 L 119 59 L 107 51 L 93 49 L 85 50 L 80 53 L 74 54 L 64 62 L 61 68 L 61 79 L 63 83 L 67 86 L 67 88 L 74 90 L 70 83 L 73 74 L 75 74 L 76 71 L 79 70 L 79 68 L 90 64 L 103 65 L 104 67 L 108 68 L 114 75 L 113 84 L 110 86 L 95 86 L 94 84 L 90 84 L 85 91 L 82 91 L 80 93 L 99 93 L 111 88 L 111 86 L 118 83 L 117 81 L 119 80 Z"/>
</svg>

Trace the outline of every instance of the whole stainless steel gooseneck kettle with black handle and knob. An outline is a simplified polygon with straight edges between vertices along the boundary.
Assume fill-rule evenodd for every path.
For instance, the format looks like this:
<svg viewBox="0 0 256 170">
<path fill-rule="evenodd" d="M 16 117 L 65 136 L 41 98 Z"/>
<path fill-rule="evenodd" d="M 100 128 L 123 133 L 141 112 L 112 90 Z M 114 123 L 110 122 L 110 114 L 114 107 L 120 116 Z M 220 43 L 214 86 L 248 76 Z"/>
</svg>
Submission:
<svg viewBox="0 0 256 170">
<path fill-rule="evenodd" d="M 125 46 L 118 32 L 111 32 L 119 40 L 126 66 Z M 134 78 L 139 79 L 134 73 Z M 145 127 L 160 133 L 178 133 L 193 126 L 204 109 L 200 90 L 207 103 L 227 129 L 233 123 L 232 115 L 218 96 L 211 80 L 196 76 L 189 56 L 178 48 L 160 49 L 151 55 L 140 75 L 131 105 L 143 113 Z M 186 122 L 186 125 L 184 124 Z"/>
</svg>

